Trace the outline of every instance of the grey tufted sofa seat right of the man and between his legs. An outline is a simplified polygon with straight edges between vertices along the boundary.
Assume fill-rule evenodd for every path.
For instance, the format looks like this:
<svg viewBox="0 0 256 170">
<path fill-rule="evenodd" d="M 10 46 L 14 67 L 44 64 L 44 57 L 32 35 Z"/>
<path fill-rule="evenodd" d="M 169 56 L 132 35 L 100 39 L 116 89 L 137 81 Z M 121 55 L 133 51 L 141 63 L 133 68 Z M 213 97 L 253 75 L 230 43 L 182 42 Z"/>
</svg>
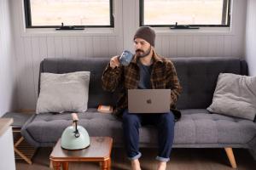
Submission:
<svg viewBox="0 0 256 170">
<path fill-rule="evenodd" d="M 256 134 L 255 122 L 210 114 L 205 109 L 182 110 L 175 124 L 174 144 L 247 144 Z M 157 142 L 154 127 L 142 127 L 140 141 Z"/>
</svg>

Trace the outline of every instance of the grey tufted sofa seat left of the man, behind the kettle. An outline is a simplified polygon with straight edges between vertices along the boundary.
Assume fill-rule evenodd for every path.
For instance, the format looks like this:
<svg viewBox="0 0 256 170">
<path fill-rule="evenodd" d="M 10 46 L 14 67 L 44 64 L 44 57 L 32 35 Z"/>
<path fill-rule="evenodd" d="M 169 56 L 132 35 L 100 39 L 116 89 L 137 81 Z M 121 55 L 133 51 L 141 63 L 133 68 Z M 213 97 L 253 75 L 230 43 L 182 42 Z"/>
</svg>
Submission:
<svg viewBox="0 0 256 170">
<path fill-rule="evenodd" d="M 79 125 L 85 127 L 90 136 L 112 136 L 115 142 L 120 142 L 121 122 L 112 115 L 99 113 L 96 109 L 88 109 L 84 113 L 79 113 L 78 116 Z M 50 146 L 61 138 L 67 126 L 72 125 L 71 119 L 70 113 L 38 114 L 26 125 L 26 131 L 42 146 Z"/>
</svg>

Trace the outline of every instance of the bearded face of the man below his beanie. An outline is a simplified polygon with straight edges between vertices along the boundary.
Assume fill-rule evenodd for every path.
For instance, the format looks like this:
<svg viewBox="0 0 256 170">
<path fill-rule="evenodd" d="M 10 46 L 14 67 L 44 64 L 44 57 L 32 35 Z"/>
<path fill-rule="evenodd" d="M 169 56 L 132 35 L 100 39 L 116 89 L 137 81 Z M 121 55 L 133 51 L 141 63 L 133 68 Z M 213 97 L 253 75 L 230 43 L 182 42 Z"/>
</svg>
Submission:
<svg viewBox="0 0 256 170">
<path fill-rule="evenodd" d="M 142 38 L 136 38 L 134 40 L 135 52 L 138 57 L 143 58 L 150 54 L 151 45 Z"/>
</svg>

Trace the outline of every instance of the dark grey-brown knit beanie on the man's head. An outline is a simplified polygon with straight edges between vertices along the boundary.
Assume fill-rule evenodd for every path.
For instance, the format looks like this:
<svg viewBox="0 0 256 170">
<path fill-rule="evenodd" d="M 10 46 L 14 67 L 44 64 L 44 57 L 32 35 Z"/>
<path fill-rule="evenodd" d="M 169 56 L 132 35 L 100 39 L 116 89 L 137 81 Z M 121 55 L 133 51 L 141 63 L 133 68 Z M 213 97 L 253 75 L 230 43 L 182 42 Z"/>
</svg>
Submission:
<svg viewBox="0 0 256 170">
<path fill-rule="evenodd" d="M 133 40 L 135 40 L 137 37 L 143 38 L 148 43 L 150 43 L 151 46 L 154 47 L 155 32 L 149 26 L 142 26 L 142 27 L 140 27 L 136 31 L 136 33 L 135 33 L 135 35 L 133 37 Z"/>
</svg>

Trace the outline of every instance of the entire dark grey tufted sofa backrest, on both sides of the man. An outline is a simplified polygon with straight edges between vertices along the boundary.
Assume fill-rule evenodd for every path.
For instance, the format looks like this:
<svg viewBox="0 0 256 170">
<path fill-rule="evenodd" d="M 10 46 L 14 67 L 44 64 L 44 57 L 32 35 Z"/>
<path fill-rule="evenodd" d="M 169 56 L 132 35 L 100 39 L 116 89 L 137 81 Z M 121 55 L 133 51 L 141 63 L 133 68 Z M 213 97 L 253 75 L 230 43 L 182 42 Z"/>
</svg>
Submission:
<svg viewBox="0 0 256 170">
<path fill-rule="evenodd" d="M 207 108 L 212 103 L 218 74 L 229 72 L 247 75 L 247 64 L 235 58 L 170 58 L 174 63 L 177 76 L 183 87 L 178 109 Z M 47 58 L 41 62 L 40 72 L 67 73 L 90 71 L 88 107 L 96 108 L 99 104 L 114 105 L 116 94 L 102 89 L 102 72 L 108 64 L 108 58 L 56 59 Z M 40 78 L 39 78 L 40 82 Z M 38 85 L 38 94 L 40 83 Z"/>
</svg>

